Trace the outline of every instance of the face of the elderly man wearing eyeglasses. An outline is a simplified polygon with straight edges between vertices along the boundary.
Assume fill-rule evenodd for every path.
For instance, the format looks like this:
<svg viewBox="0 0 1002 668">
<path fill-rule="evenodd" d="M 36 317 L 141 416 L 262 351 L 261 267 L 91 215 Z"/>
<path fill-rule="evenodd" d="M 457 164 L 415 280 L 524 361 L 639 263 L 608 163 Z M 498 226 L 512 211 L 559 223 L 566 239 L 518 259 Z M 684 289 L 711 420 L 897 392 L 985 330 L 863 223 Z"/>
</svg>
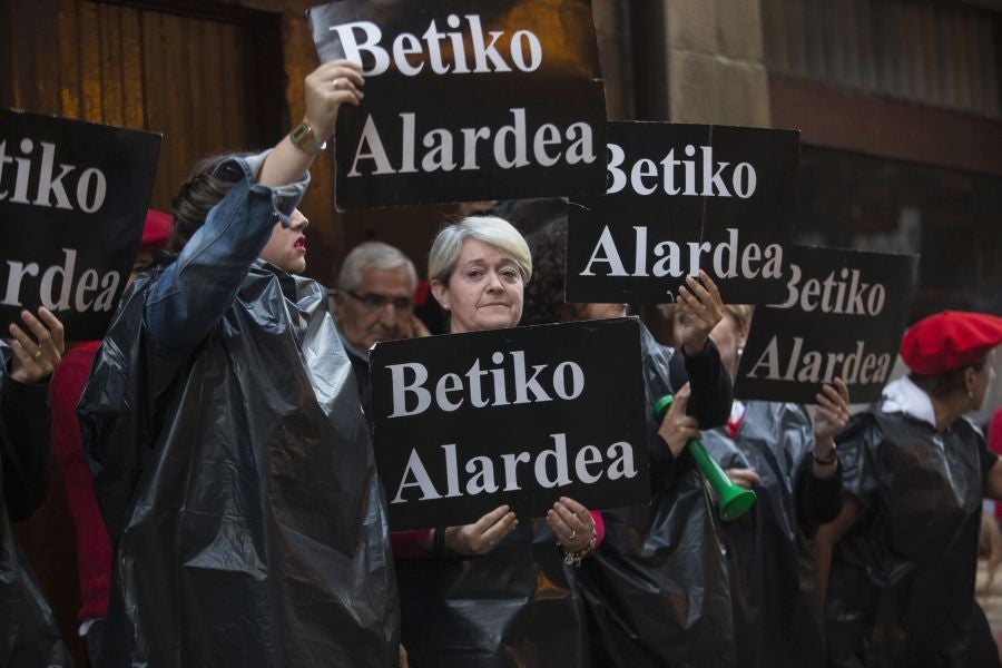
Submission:
<svg viewBox="0 0 1002 668">
<path fill-rule="evenodd" d="M 362 351 L 377 341 L 411 336 L 414 287 L 404 267 L 363 269 L 355 289 L 334 295 L 341 333 Z"/>
</svg>

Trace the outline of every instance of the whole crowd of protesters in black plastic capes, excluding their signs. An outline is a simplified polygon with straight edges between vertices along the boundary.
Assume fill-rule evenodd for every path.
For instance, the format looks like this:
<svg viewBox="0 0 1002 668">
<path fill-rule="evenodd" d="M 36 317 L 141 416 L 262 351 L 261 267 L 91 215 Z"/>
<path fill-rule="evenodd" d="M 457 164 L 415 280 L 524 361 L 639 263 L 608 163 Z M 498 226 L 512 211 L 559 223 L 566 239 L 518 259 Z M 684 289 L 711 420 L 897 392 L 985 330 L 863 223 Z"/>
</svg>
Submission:
<svg viewBox="0 0 1002 668">
<path fill-rule="evenodd" d="M 53 443 L 94 668 L 999 665 L 974 578 L 1002 464 L 965 418 L 994 382 L 991 315 L 915 323 L 910 373 L 854 416 L 841 380 L 814 406 L 743 404 L 731 382 L 752 310 L 700 272 L 671 345 L 641 325 L 649 505 L 557 497 L 543 518 L 501 505 L 391 533 L 367 351 L 431 334 L 419 277 L 381 243 L 350 253 L 331 291 L 302 277 L 296 208 L 363 88 L 354 63 L 322 65 L 305 81 L 313 141 L 196 165 L 169 218 L 148 217 L 100 345 L 67 350 L 45 308 L 10 326 L 0 666 L 72 665 L 10 528 L 45 497 Z M 628 313 L 564 301 L 559 199 L 482 207 L 494 215 L 431 245 L 426 291 L 446 332 Z M 700 438 L 758 494 L 727 525 L 686 451 Z"/>
</svg>

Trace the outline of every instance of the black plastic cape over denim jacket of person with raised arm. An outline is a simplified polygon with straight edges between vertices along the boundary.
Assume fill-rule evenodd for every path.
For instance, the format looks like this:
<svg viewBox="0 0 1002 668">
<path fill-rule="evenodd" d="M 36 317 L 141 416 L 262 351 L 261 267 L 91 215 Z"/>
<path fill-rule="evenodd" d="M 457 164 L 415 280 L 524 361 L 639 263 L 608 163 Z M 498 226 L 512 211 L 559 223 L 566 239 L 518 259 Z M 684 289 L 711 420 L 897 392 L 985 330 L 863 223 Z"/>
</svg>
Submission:
<svg viewBox="0 0 1002 668">
<path fill-rule="evenodd" d="M 256 262 L 194 350 L 127 295 L 78 405 L 115 546 L 109 666 L 396 666 L 385 505 L 324 289 Z"/>
</svg>

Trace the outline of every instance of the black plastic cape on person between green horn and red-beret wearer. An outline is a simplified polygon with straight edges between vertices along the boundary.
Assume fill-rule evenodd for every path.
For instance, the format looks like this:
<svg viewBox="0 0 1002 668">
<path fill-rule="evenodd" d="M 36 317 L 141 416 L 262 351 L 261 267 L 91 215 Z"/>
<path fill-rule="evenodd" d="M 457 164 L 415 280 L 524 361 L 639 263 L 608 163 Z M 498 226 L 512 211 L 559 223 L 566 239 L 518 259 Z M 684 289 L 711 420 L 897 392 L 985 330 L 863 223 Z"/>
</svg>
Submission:
<svg viewBox="0 0 1002 668">
<path fill-rule="evenodd" d="M 737 433 L 703 432 L 721 468 L 755 469 L 762 484 L 755 505 L 721 525 L 730 573 L 739 668 L 824 668 L 825 628 L 811 539 L 841 508 L 841 478 L 809 473 L 814 426 L 790 403 L 753 401 Z M 813 505 L 814 485 L 834 501 L 827 513 Z"/>
</svg>

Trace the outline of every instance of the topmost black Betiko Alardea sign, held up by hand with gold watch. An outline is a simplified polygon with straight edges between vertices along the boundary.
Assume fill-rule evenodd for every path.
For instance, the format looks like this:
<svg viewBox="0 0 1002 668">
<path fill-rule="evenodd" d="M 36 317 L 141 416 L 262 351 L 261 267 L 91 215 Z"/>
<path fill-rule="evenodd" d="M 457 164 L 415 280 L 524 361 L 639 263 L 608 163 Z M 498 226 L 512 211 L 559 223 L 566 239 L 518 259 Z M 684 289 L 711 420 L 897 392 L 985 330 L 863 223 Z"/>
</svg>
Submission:
<svg viewBox="0 0 1002 668">
<path fill-rule="evenodd" d="M 341 0 L 310 22 L 322 61 L 365 76 L 337 116 L 338 209 L 605 188 L 589 0 Z"/>
</svg>

